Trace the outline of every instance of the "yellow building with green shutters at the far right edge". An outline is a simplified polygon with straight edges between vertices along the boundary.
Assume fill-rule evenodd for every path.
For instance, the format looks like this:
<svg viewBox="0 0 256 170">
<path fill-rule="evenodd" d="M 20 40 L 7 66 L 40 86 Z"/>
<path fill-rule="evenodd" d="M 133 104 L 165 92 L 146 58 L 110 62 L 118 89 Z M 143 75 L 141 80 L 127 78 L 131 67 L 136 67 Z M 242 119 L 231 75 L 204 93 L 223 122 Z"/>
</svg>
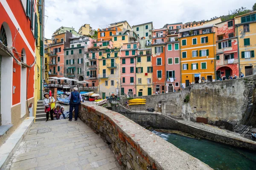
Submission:
<svg viewBox="0 0 256 170">
<path fill-rule="evenodd" d="M 244 76 L 256 74 L 256 11 L 235 17 L 239 47 L 239 72 Z"/>
</svg>

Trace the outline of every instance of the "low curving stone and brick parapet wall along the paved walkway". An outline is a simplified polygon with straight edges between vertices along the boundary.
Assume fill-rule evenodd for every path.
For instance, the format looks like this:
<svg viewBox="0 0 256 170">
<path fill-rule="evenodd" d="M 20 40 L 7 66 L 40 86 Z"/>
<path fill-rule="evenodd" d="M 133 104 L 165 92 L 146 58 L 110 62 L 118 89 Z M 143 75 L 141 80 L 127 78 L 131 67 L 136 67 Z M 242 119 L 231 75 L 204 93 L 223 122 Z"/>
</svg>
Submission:
<svg viewBox="0 0 256 170">
<path fill-rule="evenodd" d="M 119 164 L 135 170 L 208 170 L 207 164 L 125 116 L 97 105 L 81 105 L 80 119 L 109 143 Z"/>
</svg>

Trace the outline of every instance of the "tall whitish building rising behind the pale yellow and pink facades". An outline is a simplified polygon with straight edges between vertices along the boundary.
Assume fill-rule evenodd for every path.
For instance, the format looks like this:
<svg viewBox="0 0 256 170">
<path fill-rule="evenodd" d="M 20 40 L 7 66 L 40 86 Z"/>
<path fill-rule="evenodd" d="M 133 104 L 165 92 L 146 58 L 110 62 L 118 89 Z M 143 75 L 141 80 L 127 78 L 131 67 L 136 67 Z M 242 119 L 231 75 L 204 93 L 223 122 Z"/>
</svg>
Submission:
<svg viewBox="0 0 256 170">
<path fill-rule="evenodd" d="M 151 49 L 153 22 L 132 26 L 138 37 L 141 49 Z"/>
</svg>

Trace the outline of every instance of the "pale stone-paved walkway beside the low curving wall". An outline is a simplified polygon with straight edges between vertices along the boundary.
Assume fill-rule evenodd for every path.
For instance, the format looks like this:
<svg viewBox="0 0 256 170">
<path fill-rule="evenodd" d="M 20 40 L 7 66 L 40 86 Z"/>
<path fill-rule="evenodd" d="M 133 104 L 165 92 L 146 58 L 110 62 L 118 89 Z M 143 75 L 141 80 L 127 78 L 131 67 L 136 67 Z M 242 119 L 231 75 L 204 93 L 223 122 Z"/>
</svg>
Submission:
<svg viewBox="0 0 256 170">
<path fill-rule="evenodd" d="M 6 170 L 120 170 L 112 151 L 80 119 L 36 122 Z"/>
</svg>

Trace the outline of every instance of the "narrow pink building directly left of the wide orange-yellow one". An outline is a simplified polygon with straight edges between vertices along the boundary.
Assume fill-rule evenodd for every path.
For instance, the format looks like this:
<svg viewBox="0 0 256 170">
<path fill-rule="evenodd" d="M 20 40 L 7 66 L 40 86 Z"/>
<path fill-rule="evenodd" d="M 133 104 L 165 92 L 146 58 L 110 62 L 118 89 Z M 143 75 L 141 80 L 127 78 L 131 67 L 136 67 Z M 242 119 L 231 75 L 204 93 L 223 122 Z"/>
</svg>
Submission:
<svg viewBox="0 0 256 170">
<path fill-rule="evenodd" d="M 166 92 L 180 88 L 180 48 L 178 33 L 182 23 L 168 24 L 167 41 L 165 45 Z"/>
</svg>

